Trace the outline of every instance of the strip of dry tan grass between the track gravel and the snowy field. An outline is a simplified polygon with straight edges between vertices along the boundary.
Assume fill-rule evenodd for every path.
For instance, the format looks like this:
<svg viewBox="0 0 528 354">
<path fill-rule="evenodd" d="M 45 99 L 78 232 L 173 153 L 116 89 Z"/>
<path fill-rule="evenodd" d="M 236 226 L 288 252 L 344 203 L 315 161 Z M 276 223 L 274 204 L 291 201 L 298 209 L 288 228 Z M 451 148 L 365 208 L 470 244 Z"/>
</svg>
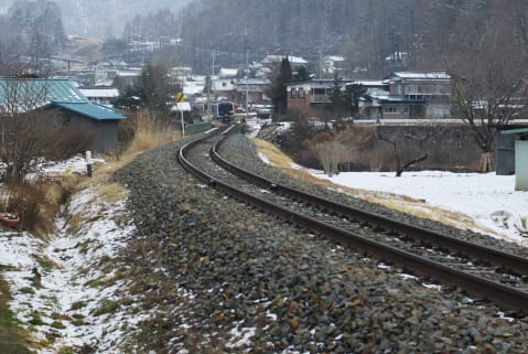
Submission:
<svg viewBox="0 0 528 354">
<path fill-rule="evenodd" d="M 484 233 L 493 233 L 491 229 L 476 225 L 475 222 L 465 214 L 443 210 L 438 206 L 431 206 L 423 200 L 417 200 L 407 195 L 387 192 L 346 187 L 332 183 L 327 180 L 317 179 L 306 171 L 293 168 L 293 161 L 270 142 L 260 139 L 255 139 L 254 142 L 257 146 L 258 151 L 266 155 L 276 169 L 298 180 L 333 190 L 340 190 L 355 197 L 366 200 L 370 203 L 376 203 L 391 210 L 416 215 L 418 217 L 429 218 L 449 226 L 471 229 L 479 228 Z"/>
</svg>

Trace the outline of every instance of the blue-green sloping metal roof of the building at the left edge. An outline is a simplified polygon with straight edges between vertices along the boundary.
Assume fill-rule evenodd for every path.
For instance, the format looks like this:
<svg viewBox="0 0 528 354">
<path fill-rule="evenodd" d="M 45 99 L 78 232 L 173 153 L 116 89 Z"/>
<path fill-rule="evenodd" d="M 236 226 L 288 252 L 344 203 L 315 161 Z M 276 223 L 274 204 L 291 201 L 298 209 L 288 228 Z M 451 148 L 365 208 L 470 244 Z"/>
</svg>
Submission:
<svg viewBox="0 0 528 354">
<path fill-rule="evenodd" d="M 112 108 L 93 104 L 67 78 L 0 77 L 0 104 L 24 112 L 46 106 L 61 107 L 96 120 L 125 119 Z"/>
</svg>

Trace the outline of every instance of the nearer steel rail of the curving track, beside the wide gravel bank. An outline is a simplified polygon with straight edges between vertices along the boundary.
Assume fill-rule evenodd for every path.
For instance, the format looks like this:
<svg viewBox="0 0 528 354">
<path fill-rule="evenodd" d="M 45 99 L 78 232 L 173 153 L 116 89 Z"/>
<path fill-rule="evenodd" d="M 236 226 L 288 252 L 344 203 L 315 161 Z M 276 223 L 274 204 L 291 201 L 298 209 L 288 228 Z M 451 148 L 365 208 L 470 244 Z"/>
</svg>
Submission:
<svg viewBox="0 0 528 354">
<path fill-rule="evenodd" d="M 205 139 L 207 139 L 207 137 Z M 185 158 L 185 152 L 202 140 L 203 139 L 195 140 L 183 146 L 179 151 L 177 159 L 187 171 L 207 184 L 213 185 L 215 189 L 231 195 L 244 203 L 271 213 L 287 222 L 301 225 L 310 230 L 319 232 L 331 239 L 358 248 L 366 254 L 384 261 L 397 264 L 410 272 L 425 278 L 435 279 L 442 283 L 457 286 L 479 299 L 488 300 L 504 309 L 516 311 L 517 315 L 528 313 L 528 292 L 502 285 L 493 280 L 479 278 L 465 271 L 450 268 L 434 260 L 384 245 L 332 225 L 327 225 L 323 222 L 306 217 L 297 212 L 292 212 L 255 195 L 245 193 L 236 186 L 222 182 L 205 171 L 196 168 Z"/>
</svg>

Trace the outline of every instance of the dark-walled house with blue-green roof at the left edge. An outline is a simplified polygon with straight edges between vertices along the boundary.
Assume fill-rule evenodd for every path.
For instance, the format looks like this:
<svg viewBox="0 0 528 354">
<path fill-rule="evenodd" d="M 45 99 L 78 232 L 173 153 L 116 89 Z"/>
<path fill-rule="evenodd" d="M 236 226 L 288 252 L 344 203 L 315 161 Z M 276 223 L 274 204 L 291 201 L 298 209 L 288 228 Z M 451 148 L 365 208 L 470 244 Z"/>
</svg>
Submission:
<svg viewBox="0 0 528 354">
<path fill-rule="evenodd" d="M 118 148 L 118 125 L 126 117 L 90 103 L 69 79 L 0 78 L 0 112 L 9 116 L 40 109 L 52 111 L 56 122 L 91 135 L 94 151 Z"/>
</svg>

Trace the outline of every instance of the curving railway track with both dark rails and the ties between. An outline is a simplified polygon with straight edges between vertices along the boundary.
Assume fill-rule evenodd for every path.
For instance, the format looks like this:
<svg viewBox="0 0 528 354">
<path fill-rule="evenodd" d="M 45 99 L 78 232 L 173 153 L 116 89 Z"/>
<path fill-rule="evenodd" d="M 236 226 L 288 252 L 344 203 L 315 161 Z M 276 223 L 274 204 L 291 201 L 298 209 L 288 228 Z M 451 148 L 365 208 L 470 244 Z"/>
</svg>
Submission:
<svg viewBox="0 0 528 354">
<path fill-rule="evenodd" d="M 230 128 L 233 129 L 233 128 Z M 290 189 L 233 165 L 218 153 L 228 131 L 185 144 L 180 163 L 205 183 L 403 269 L 518 315 L 528 313 L 528 259 Z"/>
</svg>

